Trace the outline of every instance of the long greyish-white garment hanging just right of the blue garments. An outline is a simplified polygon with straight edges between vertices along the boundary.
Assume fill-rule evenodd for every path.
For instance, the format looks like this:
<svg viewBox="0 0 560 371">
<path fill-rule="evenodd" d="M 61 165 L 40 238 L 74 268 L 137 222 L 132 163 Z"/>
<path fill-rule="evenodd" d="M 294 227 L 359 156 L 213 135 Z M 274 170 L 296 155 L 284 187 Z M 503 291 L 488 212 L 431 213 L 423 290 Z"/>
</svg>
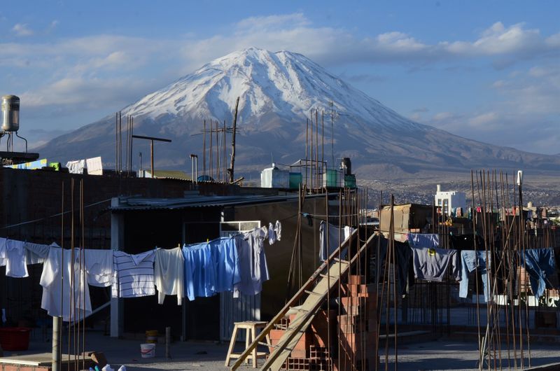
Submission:
<svg viewBox="0 0 560 371">
<path fill-rule="evenodd" d="M 241 281 L 235 285 L 233 297 L 239 297 L 241 293 L 256 295 L 262 290 L 262 282 L 269 279 L 264 247 L 265 232 L 262 228 L 255 228 L 234 238 L 239 255 Z"/>
</svg>

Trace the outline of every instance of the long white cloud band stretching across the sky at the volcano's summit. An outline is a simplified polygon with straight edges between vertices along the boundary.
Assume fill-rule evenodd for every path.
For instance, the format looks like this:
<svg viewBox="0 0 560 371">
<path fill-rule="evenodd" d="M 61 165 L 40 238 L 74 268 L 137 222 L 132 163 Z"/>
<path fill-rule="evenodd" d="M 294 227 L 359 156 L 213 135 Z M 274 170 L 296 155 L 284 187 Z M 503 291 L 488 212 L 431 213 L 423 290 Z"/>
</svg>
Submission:
<svg viewBox="0 0 560 371">
<path fill-rule="evenodd" d="M 53 27 L 57 21 L 53 21 Z M 105 58 L 114 52 L 125 52 L 130 60 L 154 62 L 167 57 L 181 61 L 179 73 L 193 71 L 209 60 L 229 52 L 256 46 L 267 50 L 291 50 L 320 64 L 404 63 L 423 65 L 438 60 L 489 57 L 498 67 L 517 59 L 538 57 L 542 53 L 560 53 L 560 34 L 542 36 L 538 29 L 523 23 L 505 26 L 496 22 L 473 41 L 440 41 L 425 43 L 402 31 L 359 38 L 351 31 L 336 27 L 316 27 L 302 13 L 251 17 L 230 27 L 227 34 L 196 38 L 187 34 L 175 39 L 92 35 L 65 38 L 55 43 L 0 44 L 5 58 L 0 64 L 22 65 L 45 62 L 45 58 L 62 58 L 72 63 L 80 57 Z"/>
</svg>

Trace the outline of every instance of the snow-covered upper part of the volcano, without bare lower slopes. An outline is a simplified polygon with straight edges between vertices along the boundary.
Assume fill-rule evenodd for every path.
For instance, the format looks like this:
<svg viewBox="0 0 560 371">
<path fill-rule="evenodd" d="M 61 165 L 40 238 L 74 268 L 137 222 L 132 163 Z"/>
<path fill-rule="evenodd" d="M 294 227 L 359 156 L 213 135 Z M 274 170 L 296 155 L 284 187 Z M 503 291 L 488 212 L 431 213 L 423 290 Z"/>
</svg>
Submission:
<svg viewBox="0 0 560 371">
<path fill-rule="evenodd" d="M 403 118 L 333 76 L 304 55 L 247 48 L 214 59 L 197 71 L 128 106 L 123 113 L 190 120 L 230 120 L 239 99 L 239 122 L 258 125 L 273 114 L 293 123 L 312 109 L 334 105 L 346 125 L 412 130 L 421 125 Z"/>
</svg>

